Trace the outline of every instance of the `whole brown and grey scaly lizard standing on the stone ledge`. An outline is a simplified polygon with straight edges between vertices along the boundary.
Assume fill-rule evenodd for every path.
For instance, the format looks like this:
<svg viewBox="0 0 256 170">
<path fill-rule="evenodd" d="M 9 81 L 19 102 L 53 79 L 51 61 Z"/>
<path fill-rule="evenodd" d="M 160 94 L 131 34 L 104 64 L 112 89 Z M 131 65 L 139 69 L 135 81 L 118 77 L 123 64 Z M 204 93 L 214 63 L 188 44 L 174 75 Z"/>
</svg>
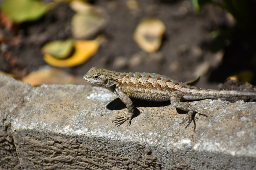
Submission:
<svg viewBox="0 0 256 170">
<path fill-rule="evenodd" d="M 167 76 L 147 72 L 116 72 L 92 67 L 83 76 L 83 79 L 91 84 L 110 90 L 124 102 L 128 113 L 116 116 L 116 119 L 112 121 L 112 123 L 115 123 L 115 126 L 122 125 L 126 121 L 131 125 L 134 105 L 130 98 L 154 102 L 170 100 L 171 105 L 176 107 L 176 109 L 188 112 L 188 115 L 180 123 L 180 125 L 187 124 L 188 126 L 192 121 L 192 116 L 195 113 L 199 113 L 196 107 L 188 102 L 190 100 L 256 96 L 256 92 L 198 88 Z"/>
</svg>

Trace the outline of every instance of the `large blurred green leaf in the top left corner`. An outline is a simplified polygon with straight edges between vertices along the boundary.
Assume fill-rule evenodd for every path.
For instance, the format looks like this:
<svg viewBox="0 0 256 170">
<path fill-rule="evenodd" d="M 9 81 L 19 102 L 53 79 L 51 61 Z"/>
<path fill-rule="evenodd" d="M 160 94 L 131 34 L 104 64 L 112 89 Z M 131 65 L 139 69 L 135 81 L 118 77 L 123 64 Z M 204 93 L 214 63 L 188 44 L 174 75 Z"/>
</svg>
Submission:
<svg viewBox="0 0 256 170">
<path fill-rule="evenodd" d="M 12 21 L 20 23 L 39 19 L 48 7 L 41 0 L 4 0 L 1 10 Z"/>
</svg>

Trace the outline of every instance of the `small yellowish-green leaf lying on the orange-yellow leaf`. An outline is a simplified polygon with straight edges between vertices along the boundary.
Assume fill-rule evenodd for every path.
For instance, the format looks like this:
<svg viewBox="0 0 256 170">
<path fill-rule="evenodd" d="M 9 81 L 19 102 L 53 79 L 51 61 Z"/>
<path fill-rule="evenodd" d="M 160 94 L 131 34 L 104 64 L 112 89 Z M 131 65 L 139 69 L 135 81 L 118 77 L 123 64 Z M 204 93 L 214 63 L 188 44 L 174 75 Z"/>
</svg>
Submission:
<svg viewBox="0 0 256 170">
<path fill-rule="evenodd" d="M 58 59 L 69 57 L 74 45 L 73 39 L 52 41 L 42 47 L 43 53 L 53 55 Z"/>
</svg>

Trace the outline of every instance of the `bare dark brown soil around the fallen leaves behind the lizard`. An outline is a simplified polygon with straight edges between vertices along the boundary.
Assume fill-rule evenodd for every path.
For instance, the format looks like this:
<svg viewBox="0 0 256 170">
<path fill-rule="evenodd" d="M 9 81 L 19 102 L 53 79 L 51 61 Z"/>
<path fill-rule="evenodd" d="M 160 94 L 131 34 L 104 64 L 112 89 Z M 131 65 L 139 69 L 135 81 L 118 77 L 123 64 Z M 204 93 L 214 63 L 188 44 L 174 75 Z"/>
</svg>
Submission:
<svg viewBox="0 0 256 170">
<path fill-rule="evenodd" d="M 121 72 L 155 72 L 182 82 L 201 74 L 196 86 L 214 89 L 240 70 L 252 69 L 255 72 L 255 67 L 247 63 L 247 54 L 238 53 L 240 57 L 235 58 L 234 55 L 226 57 L 226 51 L 210 51 L 212 31 L 230 25 L 227 13 L 220 8 L 206 5 L 200 14 L 196 14 L 190 0 L 138 0 L 138 10 L 132 11 L 126 2 L 93 1 L 107 13 L 108 23 L 101 32 L 105 41 L 86 63 L 74 68 L 62 68 L 80 76 L 78 84 L 86 84 L 82 76 L 92 66 Z M 6 57 L 6 53 L 1 51 L 0 70 L 26 74 L 46 65 L 41 47 L 49 41 L 71 37 L 70 20 L 73 14 L 68 4 L 61 3 L 40 20 L 22 23 L 17 31 L 8 32 L 1 26 L 2 35 L 6 38 L 1 49 L 7 49 L 11 55 Z M 133 39 L 136 26 L 147 17 L 162 20 L 167 28 L 162 46 L 155 54 L 143 52 Z M 230 54 L 237 53 L 232 48 L 228 50 Z"/>
</svg>

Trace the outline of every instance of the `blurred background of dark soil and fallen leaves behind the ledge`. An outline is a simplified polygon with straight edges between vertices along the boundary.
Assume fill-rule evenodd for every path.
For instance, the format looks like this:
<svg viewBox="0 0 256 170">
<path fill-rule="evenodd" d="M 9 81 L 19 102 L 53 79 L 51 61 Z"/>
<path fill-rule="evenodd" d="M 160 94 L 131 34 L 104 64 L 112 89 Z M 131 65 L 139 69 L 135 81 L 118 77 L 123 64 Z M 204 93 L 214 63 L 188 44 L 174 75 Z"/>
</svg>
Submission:
<svg viewBox="0 0 256 170">
<path fill-rule="evenodd" d="M 92 66 L 256 84 L 256 0 L 0 3 L 0 74 L 32 86 L 86 84 Z"/>
</svg>

